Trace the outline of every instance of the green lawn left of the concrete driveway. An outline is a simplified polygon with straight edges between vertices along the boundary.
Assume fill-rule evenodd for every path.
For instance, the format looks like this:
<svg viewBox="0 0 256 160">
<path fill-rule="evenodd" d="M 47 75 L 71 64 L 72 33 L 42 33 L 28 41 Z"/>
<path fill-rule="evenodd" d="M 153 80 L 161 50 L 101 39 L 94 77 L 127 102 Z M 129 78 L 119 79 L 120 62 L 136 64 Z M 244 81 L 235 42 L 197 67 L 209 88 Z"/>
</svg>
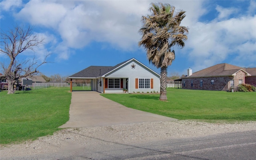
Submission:
<svg viewBox="0 0 256 160">
<path fill-rule="evenodd" d="M 0 92 L 0 143 L 53 134 L 69 119 L 70 88 Z"/>
</svg>

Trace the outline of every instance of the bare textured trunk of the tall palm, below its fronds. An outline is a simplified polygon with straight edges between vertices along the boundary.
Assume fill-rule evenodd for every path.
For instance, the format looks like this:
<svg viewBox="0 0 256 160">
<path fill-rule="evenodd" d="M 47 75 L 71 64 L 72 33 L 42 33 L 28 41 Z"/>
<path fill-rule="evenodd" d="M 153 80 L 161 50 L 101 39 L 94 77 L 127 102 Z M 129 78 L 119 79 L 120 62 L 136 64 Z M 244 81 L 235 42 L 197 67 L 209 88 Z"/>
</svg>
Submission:
<svg viewBox="0 0 256 160">
<path fill-rule="evenodd" d="M 166 79 L 167 79 L 167 67 L 161 68 L 161 78 L 160 78 L 160 100 L 166 101 Z"/>
</svg>

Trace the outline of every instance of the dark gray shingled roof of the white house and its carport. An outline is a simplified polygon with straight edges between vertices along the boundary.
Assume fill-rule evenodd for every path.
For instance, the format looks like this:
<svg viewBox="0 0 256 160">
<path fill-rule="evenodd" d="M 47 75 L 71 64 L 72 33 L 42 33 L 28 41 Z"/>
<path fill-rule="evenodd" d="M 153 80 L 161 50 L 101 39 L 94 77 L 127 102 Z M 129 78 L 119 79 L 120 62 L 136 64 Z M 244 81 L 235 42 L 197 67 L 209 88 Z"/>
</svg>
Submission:
<svg viewBox="0 0 256 160">
<path fill-rule="evenodd" d="M 131 58 L 131 59 L 133 59 L 133 58 Z M 114 67 L 112 67 L 112 66 L 90 66 L 88 68 L 85 68 L 84 70 L 81 70 L 80 72 L 73 74 L 72 76 L 69 76 L 69 78 L 96 78 L 96 77 L 102 76 L 102 75 L 118 68 L 119 66 L 121 66 L 122 64 L 125 64 L 128 61 L 129 60 L 126 60 L 120 64 L 117 64 Z"/>
</svg>

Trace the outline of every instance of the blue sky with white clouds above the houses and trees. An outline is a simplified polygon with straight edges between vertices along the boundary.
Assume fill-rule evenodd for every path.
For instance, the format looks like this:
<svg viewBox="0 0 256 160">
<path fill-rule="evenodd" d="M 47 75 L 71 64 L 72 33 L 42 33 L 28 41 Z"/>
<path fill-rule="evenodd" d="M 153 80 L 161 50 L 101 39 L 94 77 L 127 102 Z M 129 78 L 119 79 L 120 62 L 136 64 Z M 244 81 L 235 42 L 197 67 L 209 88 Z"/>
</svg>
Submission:
<svg viewBox="0 0 256 160">
<path fill-rule="evenodd" d="M 1 32 L 16 24 L 33 26 L 34 34 L 45 44 L 33 52 L 24 52 L 20 60 L 38 61 L 51 53 L 38 68 L 46 76 L 70 76 L 88 66 L 114 66 L 136 58 L 154 71 L 146 51 L 138 47 L 141 16 L 150 14 L 152 2 L 169 3 L 185 10 L 182 26 L 190 28 L 182 49 L 168 67 L 168 75 L 185 74 L 220 63 L 256 67 L 256 1 L 148 1 L 148 0 L 0 0 Z M 0 54 L 1 62 L 8 58 Z M 2 72 L 2 70 L 1 70 Z"/>
</svg>

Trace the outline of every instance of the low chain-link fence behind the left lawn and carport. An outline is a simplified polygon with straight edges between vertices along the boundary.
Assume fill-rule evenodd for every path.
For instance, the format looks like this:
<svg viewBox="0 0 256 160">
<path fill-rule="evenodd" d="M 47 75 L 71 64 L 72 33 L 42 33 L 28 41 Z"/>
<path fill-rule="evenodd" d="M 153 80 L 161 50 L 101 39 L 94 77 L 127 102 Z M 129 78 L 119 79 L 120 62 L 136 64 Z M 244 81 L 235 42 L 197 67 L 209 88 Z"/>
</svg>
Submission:
<svg viewBox="0 0 256 160">
<path fill-rule="evenodd" d="M 91 84 L 76 84 L 72 83 L 72 87 L 79 87 L 81 89 L 88 89 L 90 88 Z M 68 83 L 33 83 L 32 88 L 33 90 L 41 89 L 41 88 L 48 88 L 48 87 L 70 87 Z"/>
</svg>

